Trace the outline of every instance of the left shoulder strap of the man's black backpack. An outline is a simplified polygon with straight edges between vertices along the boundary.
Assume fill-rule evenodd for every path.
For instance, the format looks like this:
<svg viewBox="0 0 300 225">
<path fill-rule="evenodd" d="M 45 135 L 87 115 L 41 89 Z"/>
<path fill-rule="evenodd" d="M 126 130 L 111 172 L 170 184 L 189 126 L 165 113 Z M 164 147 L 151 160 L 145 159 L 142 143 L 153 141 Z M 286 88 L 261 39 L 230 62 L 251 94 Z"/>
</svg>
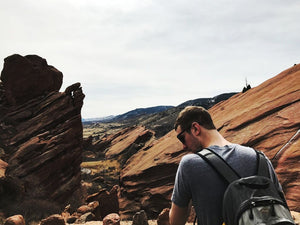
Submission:
<svg viewBox="0 0 300 225">
<path fill-rule="evenodd" d="M 231 183 L 239 178 L 240 175 L 219 155 L 206 148 L 196 153 L 205 160 L 223 179 Z"/>
</svg>

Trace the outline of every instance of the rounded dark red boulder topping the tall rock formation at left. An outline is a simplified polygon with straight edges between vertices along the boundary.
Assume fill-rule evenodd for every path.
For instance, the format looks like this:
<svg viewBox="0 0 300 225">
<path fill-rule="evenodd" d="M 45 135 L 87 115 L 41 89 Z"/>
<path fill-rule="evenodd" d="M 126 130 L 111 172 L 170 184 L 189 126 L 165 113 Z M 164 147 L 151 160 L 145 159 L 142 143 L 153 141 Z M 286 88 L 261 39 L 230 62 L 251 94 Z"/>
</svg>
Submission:
<svg viewBox="0 0 300 225">
<path fill-rule="evenodd" d="M 1 80 L 10 105 L 27 102 L 30 99 L 59 91 L 63 74 L 49 66 L 37 55 L 12 55 L 4 59 Z"/>
</svg>

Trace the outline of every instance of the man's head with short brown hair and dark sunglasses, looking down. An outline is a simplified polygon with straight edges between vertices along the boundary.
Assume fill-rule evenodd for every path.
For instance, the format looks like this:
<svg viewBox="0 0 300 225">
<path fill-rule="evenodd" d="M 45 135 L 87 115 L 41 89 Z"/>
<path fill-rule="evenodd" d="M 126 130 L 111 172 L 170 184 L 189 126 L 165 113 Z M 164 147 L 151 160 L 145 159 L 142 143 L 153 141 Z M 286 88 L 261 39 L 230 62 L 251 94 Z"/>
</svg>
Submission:
<svg viewBox="0 0 300 225">
<path fill-rule="evenodd" d="M 182 110 L 174 126 L 184 148 L 196 151 L 203 147 L 207 131 L 216 130 L 210 114 L 203 107 L 188 106 Z M 204 133 L 203 133 L 204 132 Z"/>
</svg>

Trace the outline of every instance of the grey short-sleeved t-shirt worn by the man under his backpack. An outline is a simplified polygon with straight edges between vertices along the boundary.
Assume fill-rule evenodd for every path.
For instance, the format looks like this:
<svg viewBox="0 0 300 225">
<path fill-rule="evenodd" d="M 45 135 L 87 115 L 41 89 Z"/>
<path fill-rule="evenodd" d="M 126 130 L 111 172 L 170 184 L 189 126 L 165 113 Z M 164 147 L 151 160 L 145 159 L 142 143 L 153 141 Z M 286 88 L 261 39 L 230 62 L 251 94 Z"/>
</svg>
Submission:
<svg viewBox="0 0 300 225">
<path fill-rule="evenodd" d="M 252 148 L 238 144 L 210 146 L 242 177 L 256 173 L 256 153 Z M 272 180 L 281 189 L 271 162 Z M 192 199 L 199 225 L 222 224 L 222 199 L 226 182 L 197 154 L 182 157 L 177 170 L 172 202 L 187 207 Z"/>
</svg>

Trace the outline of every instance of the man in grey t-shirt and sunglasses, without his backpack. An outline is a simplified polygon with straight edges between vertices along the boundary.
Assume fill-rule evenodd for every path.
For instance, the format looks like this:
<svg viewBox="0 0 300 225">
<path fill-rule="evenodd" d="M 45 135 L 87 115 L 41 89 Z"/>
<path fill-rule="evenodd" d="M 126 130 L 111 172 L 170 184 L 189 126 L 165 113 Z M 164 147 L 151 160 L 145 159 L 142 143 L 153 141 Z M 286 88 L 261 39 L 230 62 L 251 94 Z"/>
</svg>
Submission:
<svg viewBox="0 0 300 225">
<path fill-rule="evenodd" d="M 227 141 L 217 131 L 210 114 L 204 108 L 186 107 L 178 115 L 175 130 L 184 149 L 195 153 L 209 147 L 240 176 L 255 174 L 255 151 Z M 280 187 L 270 161 L 269 171 L 273 182 Z M 226 187 L 226 182 L 199 155 L 185 155 L 176 174 L 169 213 L 170 224 L 185 224 L 192 203 L 199 225 L 221 225 L 222 199 Z"/>
</svg>

